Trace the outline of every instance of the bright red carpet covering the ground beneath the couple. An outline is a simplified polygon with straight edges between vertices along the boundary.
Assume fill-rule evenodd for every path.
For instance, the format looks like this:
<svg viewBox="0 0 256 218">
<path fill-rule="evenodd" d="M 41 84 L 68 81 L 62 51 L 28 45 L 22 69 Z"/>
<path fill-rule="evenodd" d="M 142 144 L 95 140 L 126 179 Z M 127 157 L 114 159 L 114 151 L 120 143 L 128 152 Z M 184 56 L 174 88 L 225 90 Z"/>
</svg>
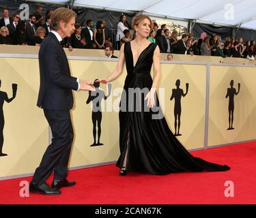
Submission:
<svg viewBox="0 0 256 218">
<path fill-rule="evenodd" d="M 114 165 L 71 171 L 77 185 L 60 196 L 19 196 L 19 178 L 0 181 L 0 204 L 256 204 L 256 142 L 192 152 L 196 157 L 231 166 L 228 172 L 119 176 Z M 226 198 L 225 181 L 234 197 Z M 51 180 L 48 181 L 51 183 Z"/>
</svg>

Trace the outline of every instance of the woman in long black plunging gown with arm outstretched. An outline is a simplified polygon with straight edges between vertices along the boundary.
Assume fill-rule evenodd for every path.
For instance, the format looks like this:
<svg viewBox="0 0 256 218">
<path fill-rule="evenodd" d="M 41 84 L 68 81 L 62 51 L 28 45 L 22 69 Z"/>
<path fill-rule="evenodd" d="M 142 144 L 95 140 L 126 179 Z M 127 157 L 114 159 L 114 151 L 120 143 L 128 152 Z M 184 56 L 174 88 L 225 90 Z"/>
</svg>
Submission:
<svg viewBox="0 0 256 218">
<path fill-rule="evenodd" d="M 126 62 L 127 76 L 119 111 L 121 155 L 117 167 L 121 169 L 120 175 L 127 172 L 163 175 L 171 172 L 229 170 L 229 166 L 190 155 L 169 129 L 165 117 L 160 116 L 162 111 L 159 109 L 156 112 L 159 104 L 156 87 L 160 80 L 160 50 L 157 44 L 147 41 L 153 23 L 149 17 L 141 14 L 134 18 L 132 27 L 137 31 L 136 39 L 122 46 L 113 74 L 97 81 L 107 83 L 115 80 Z M 152 63 L 154 80 L 150 76 Z M 145 95 L 130 94 L 132 89 L 143 89 Z M 129 109 L 134 109 L 134 112 Z"/>
</svg>

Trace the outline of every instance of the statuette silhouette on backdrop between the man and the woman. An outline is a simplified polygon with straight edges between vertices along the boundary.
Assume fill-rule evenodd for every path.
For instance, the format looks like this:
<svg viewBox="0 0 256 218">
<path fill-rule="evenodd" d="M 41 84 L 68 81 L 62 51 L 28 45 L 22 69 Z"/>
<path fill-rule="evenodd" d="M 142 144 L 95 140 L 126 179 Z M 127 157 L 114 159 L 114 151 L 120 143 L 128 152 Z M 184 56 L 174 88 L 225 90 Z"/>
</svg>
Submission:
<svg viewBox="0 0 256 218">
<path fill-rule="evenodd" d="M 102 143 L 100 143 L 102 121 L 101 102 L 102 99 L 106 100 L 111 95 L 112 84 L 108 84 L 108 95 L 105 95 L 104 91 L 99 89 L 100 83 L 96 82 L 96 80 L 94 80 L 94 87 L 96 91 L 89 91 L 88 99 L 86 101 L 86 104 L 89 104 L 92 101 L 91 119 L 94 125 L 94 144 L 91 144 L 90 146 L 100 146 L 103 145 Z M 96 123 L 98 123 L 98 143 L 96 143 Z"/>
</svg>

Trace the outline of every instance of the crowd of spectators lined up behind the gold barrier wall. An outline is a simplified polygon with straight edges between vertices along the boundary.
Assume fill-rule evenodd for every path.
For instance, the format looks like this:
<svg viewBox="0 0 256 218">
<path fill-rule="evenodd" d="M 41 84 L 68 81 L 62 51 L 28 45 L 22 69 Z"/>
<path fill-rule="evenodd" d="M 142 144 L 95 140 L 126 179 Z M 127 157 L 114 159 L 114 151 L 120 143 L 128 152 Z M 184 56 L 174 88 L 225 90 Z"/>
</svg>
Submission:
<svg viewBox="0 0 256 218">
<path fill-rule="evenodd" d="M 3 18 L 0 19 L 0 44 L 29 45 L 40 46 L 44 37 L 50 32 L 51 14 L 53 10 L 48 10 L 45 16 L 42 16 L 42 6 L 35 8 L 35 13 L 30 14 L 29 20 L 20 20 L 20 14 L 14 13 L 9 16 L 9 10 L 3 9 Z M 106 55 L 115 57 L 114 44 L 117 49 L 121 48 L 125 42 L 130 42 L 136 37 L 136 33 L 129 29 L 126 16 L 123 14 L 119 18 L 117 24 L 117 33 L 115 39 L 111 31 L 106 27 L 104 20 L 98 20 L 96 27 L 94 21 L 88 19 L 86 27 L 81 24 L 75 25 L 75 31 L 71 37 L 63 40 L 63 47 L 69 48 L 87 48 L 87 49 L 104 49 Z M 227 37 L 221 39 L 220 35 L 214 34 L 208 36 L 201 33 L 201 37 L 197 40 L 193 33 L 183 34 L 178 40 L 177 31 L 169 31 L 167 25 L 161 25 L 154 22 L 154 29 L 151 31 L 147 40 L 158 44 L 160 52 L 180 55 L 203 55 L 218 57 L 240 57 L 250 60 L 256 58 L 256 42 L 255 40 L 244 43 L 241 38 L 233 39 Z M 171 56 L 169 56 L 171 57 Z"/>
</svg>

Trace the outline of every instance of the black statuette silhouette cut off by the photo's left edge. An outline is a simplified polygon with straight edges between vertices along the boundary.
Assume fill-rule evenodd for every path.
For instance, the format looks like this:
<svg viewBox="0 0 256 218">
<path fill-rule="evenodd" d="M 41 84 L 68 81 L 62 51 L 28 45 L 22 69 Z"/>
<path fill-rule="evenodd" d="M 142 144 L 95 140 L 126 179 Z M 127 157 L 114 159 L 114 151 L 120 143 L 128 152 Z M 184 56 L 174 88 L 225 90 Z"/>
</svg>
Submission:
<svg viewBox="0 0 256 218">
<path fill-rule="evenodd" d="M 0 80 L 1 87 L 1 80 Z M 0 91 L 0 157 L 7 156 L 7 154 L 3 153 L 3 127 L 5 125 L 5 120 L 3 116 L 3 103 L 10 103 L 16 97 L 17 93 L 17 84 L 12 84 L 12 97 L 8 98 L 7 93 Z"/>
</svg>

